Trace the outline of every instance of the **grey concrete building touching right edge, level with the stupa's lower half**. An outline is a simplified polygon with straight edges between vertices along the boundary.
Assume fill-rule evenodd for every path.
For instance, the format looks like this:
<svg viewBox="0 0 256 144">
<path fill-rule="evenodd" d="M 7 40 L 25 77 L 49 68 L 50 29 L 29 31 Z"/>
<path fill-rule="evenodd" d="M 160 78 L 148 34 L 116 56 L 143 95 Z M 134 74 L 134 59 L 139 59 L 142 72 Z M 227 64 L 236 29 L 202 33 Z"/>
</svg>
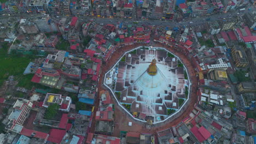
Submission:
<svg viewBox="0 0 256 144">
<path fill-rule="evenodd" d="M 236 87 L 239 93 L 256 92 L 256 83 L 253 82 L 241 82 Z"/>
</svg>

